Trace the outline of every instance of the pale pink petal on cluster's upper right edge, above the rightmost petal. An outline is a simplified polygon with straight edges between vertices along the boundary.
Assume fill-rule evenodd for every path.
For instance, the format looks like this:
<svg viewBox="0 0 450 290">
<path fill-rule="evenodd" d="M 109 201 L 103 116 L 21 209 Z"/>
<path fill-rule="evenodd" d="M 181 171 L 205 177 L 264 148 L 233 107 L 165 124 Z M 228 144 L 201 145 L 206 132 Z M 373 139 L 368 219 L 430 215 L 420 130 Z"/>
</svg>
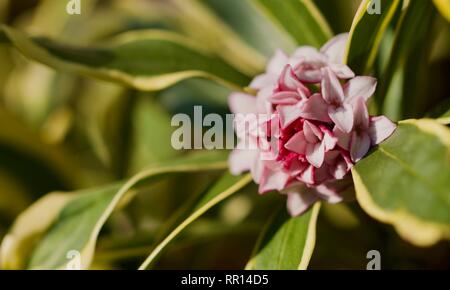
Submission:
<svg viewBox="0 0 450 290">
<path fill-rule="evenodd" d="M 365 102 L 375 93 L 377 79 L 373 77 L 355 77 L 344 86 L 345 101 L 354 104 L 358 98 Z"/>
</svg>

